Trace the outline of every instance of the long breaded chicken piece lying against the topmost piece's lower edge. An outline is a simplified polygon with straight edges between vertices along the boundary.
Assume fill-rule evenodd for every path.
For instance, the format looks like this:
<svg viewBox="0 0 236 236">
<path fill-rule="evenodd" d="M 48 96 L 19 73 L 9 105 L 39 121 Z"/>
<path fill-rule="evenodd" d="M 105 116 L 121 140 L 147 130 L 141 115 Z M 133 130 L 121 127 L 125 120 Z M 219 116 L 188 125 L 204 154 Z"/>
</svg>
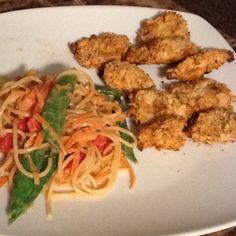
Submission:
<svg viewBox="0 0 236 236">
<path fill-rule="evenodd" d="M 134 64 L 169 64 L 198 51 L 194 43 L 184 38 L 153 39 L 145 45 L 130 48 L 126 60 Z"/>
</svg>

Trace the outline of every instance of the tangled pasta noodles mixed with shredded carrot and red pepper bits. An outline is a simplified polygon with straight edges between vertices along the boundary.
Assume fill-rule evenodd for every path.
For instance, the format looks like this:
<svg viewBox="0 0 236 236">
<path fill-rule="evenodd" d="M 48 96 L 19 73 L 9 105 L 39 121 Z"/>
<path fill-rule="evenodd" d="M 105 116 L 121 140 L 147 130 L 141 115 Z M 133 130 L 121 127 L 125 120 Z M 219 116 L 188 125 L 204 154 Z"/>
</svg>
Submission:
<svg viewBox="0 0 236 236">
<path fill-rule="evenodd" d="M 43 118 L 43 105 L 57 78 L 75 75 L 77 83 L 61 135 Z M 34 72 L 18 81 L 5 83 L 0 88 L 0 151 L 7 153 L 0 165 L 0 176 L 6 176 L 14 188 L 16 171 L 34 180 L 38 185 L 52 168 L 52 158 L 41 172 L 30 153 L 50 148 L 44 142 L 42 128 L 46 129 L 59 147 L 57 169 L 47 183 L 46 205 L 51 215 L 51 200 L 58 196 L 96 197 L 106 194 L 114 185 L 120 170 L 130 173 L 130 188 L 135 184 L 134 171 L 122 152 L 122 145 L 136 146 L 135 136 L 117 125 L 125 115 L 118 102 L 101 95 L 92 79 L 80 70 L 68 70 L 55 76 L 37 77 Z M 33 125 L 32 125 L 33 124 Z M 31 127 L 32 125 L 32 127 Z M 121 133 L 132 138 L 130 143 Z M 10 137 L 8 150 L 1 140 Z M 5 147 L 6 148 L 6 147 Z M 23 158 L 28 158 L 30 169 L 25 169 Z"/>
</svg>

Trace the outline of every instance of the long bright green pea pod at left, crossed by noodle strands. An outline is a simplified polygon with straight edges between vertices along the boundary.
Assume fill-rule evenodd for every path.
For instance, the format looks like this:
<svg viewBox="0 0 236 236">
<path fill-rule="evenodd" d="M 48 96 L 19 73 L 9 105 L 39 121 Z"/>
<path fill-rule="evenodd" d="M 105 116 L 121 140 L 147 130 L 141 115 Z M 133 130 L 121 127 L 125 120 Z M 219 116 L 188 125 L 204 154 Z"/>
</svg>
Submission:
<svg viewBox="0 0 236 236">
<path fill-rule="evenodd" d="M 70 94 L 73 92 L 75 83 L 76 77 L 74 75 L 65 75 L 59 78 L 44 106 L 44 119 L 59 134 L 63 131 L 66 111 L 70 103 Z M 43 129 L 43 136 L 44 141 L 52 143 L 53 146 L 36 150 L 30 155 L 39 172 L 46 168 L 49 157 L 53 159 L 53 166 L 50 172 L 40 179 L 39 185 L 35 185 L 33 179 L 17 171 L 14 177 L 14 188 L 8 213 L 9 223 L 15 221 L 33 203 L 57 168 L 58 150 L 56 142 L 50 137 L 46 129 Z M 22 157 L 22 165 L 30 171 L 26 155 Z"/>
</svg>

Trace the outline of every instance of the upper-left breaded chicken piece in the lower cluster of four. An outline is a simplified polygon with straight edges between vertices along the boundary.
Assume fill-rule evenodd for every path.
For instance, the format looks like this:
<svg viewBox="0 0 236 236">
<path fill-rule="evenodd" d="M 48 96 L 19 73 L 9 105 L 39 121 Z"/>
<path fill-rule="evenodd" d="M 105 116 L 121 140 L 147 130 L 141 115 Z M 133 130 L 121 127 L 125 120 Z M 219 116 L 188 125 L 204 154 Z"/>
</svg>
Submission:
<svg viewBox="0 0 236 236">
<path fill-rule="evenodd" d="M 190 110 L 175 95 L 155 90 L 140 90 L 131 102 L 129 113 L 138 124 L 146 124 L 162 116 L 188 117 Z"/>
</svg>

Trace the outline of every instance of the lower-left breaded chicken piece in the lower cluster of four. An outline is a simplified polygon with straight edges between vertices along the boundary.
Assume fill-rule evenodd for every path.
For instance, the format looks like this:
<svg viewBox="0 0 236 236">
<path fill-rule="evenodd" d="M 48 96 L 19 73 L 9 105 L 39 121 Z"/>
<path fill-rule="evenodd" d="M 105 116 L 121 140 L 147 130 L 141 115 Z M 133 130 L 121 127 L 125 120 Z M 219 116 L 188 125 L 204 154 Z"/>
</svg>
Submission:
<svg viewBox="0 0 236 236">
<path fill-rule="evenodd" d="M 167 117 L 142 126 L 138 134 L 138 148 L 178 150 L 185 143 L 185 122 L 181 117 Z"/>
</svg>

